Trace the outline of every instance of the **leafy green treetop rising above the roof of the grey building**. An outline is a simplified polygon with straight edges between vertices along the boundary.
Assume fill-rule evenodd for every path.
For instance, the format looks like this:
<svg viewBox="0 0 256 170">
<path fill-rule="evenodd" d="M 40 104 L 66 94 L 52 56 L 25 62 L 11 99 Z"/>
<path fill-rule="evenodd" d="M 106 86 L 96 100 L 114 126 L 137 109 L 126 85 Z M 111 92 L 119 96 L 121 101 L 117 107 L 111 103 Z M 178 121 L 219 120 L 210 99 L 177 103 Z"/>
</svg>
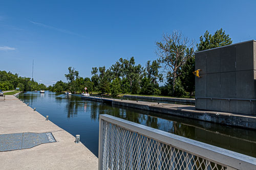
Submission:
<svg viewBox="0 0 256 170">
<path fill-rule="evenodd" d="M 209 31 L 206 30 L 204 35 L 201 36 L 199 40 L 200 43 L 197 44 L 197 51 L 208 50 L 232 43 L 229 34 L 225 34 L 225 31 L 222 28 L 217 30 L 214 35 L 211 35 Z"/>
</svg>

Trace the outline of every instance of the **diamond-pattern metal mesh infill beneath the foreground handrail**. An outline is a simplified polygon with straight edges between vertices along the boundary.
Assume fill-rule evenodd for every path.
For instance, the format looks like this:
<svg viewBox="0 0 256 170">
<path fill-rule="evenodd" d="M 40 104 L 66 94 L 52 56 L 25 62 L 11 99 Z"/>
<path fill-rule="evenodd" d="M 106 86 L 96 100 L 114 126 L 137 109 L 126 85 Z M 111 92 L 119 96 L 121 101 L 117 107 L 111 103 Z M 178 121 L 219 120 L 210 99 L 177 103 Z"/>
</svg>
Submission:
<svg viewBox="0 0 256 170">
<path fill-rule="evenodd" d="M 226 169 L 218 163 L 102 121 L 103 169 Z"/>
</svg>

